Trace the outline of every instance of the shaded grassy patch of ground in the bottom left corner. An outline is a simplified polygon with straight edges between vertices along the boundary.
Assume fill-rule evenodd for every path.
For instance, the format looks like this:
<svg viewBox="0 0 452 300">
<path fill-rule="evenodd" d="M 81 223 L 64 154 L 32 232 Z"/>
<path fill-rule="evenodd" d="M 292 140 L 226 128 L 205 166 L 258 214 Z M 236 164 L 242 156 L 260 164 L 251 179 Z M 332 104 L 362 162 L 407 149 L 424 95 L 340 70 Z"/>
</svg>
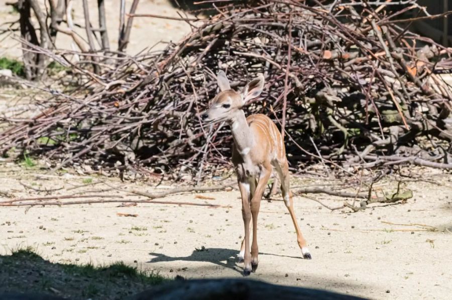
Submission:
<svg viewBox="0 0 452 300">
<path fill-rule="evenodd" d="M 31 249 L 0 255 L 0 300 L 124 299 L 164 281 L 123 262 L 103 267 L 52 263 Z"/>
</svg>

